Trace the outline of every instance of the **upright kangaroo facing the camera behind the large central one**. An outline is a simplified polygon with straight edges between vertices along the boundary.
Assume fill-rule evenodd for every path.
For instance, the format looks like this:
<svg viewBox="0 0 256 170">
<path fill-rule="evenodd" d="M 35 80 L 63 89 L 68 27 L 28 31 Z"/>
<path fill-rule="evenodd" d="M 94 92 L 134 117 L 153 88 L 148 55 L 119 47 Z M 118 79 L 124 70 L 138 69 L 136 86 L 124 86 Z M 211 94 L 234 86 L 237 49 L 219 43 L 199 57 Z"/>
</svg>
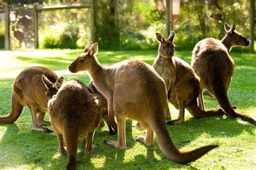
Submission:
<svg viewBox="0 0 256 170">
<path fill-rule="evenodd" d="M 224 115 L 224 111 L 221 109 L 204 111 L 198 107 L 199 77 L 188 63 L 173 56 L 175 32 L 172 31 L 168 39 L 165 39 L 160 33 L 156 33 L 156 38 L 160 44 L 153 67 L 165 80 L 168 89 L 167 98 L 174 107 L 179 109 L 178 119 L 167 122 L 167 124 L 184 122 L 185 108 L 194 117 Z"/>
</svg>

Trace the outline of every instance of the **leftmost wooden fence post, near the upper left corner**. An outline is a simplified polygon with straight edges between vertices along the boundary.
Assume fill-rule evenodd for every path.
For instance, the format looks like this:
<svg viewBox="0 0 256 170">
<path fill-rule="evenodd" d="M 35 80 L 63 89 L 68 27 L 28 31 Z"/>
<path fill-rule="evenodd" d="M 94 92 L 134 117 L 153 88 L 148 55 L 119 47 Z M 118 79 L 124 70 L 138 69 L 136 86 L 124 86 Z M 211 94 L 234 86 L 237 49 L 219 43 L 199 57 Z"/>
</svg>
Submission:
<svg viewBox="0 0 256 170">
<path fill-rule="evenodd" d="M 10 9 L 8 7 L 8 4 L 4 4 L 4 17 L 5 17 L 5 34 L 4 34 L 4 48 L 6 50 L 11 49 L 10 44 Z"/>
</svg>

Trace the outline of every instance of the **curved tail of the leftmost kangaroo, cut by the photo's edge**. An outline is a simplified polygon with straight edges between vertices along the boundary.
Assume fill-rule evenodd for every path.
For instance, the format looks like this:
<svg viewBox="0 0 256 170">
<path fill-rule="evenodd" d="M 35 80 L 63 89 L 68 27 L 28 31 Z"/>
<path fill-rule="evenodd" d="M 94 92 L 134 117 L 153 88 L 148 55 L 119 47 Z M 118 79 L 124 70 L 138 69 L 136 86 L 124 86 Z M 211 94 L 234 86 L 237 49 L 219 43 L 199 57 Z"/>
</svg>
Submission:
<svg viewBox="0 0 256 170">
<path fill-rule="evenodd" d="M 19 103 L 14 93 L 11 97 L 11 112 L 9 115 L 0 116 L 0 123 L 14 123 L 21 116 L 23 105 Z"/>
</svg>

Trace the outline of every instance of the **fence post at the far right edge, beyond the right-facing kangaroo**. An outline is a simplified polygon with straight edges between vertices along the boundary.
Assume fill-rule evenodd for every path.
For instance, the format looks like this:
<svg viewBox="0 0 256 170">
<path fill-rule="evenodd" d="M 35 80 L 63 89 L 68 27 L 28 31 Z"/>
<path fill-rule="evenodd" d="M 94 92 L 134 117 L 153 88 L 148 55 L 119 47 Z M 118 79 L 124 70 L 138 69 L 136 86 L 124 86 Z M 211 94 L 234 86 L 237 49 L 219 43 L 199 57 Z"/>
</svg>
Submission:
<svg viewBox="0 0 256 170">
<path fill-rule="evenodd" d="M 250 53 L 254 54 L 254 14 L 255 14 L 255 0 L 250 1 Z"/>
</svg>

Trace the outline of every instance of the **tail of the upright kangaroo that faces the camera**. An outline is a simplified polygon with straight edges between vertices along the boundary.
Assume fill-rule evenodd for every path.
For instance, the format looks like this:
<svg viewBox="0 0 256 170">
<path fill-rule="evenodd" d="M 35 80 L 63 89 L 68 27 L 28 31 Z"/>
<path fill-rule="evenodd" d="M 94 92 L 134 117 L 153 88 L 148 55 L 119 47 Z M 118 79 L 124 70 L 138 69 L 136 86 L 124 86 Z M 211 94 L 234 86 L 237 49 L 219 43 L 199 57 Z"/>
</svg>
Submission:
<svg viewBox="0 0 256 170">
<path fill-rule="evenodd" d="M 225 112 L 222 109 L 218 110 L 201 110 L 197 105 L 197 99 L 195 98 L 190 104 L 187 105 L 186 109 L 194 117 L 214 117 L 224 115 Z"/>
</svg>

